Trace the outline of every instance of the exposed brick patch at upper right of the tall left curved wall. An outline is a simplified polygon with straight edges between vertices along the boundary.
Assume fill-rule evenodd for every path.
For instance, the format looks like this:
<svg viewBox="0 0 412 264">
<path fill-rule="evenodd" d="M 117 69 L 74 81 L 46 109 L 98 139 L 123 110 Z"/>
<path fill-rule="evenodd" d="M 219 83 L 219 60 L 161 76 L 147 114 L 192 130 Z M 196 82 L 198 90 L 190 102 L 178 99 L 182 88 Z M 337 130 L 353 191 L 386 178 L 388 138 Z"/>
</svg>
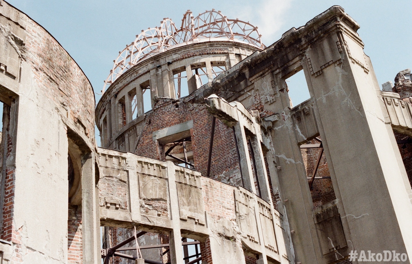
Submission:
<svg viewBox="0 0 412 264">
<path fill-rule="evenodd" d="M 32 66 L 42 96 L 55 103 L 61 116 L 74 122 L 72 129 L 84 134 L 93 147 L 94 94 L 89 80 L 44 28 L 28 20 L 26 32 L 23 59 Z"/>
</svg>

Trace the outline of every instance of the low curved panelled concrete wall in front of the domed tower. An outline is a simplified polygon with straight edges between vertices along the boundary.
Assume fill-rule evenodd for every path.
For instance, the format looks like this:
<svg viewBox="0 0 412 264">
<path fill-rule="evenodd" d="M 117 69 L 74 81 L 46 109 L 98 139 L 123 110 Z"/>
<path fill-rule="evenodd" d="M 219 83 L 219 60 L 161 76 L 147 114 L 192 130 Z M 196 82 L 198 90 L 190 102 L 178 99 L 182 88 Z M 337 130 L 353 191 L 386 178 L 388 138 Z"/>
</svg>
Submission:
<svg viewBox="0 0 412 264">
<path fill-rule="evenodd" d="M 245 247 L 274 262 L 283 263 L 282 256 L 287 256 L 284 248 L 276 245 L 276 238 L 283 241 L 281 215 L 252 192 L 206 178 L 171 161 L 103 148 L 99 148 L 99 156 L 100 184 L 110 181 L 119 190 L 116 186 L 124 182 L 127 188 L 124 208 L 119 201 L 111 200 L 117 194 L 101 189 L 103 225 L 134 225 L 143 231 L 173 230 L 179 243 L 182 236 L 208 243 L 211 250 L 205 258 L 213 259 L 213 263 L 242 263 Z M 178 251 L 180 247 L 175 252 L 171 249 L 171 259 L 182 254 Z"/>
</svg>

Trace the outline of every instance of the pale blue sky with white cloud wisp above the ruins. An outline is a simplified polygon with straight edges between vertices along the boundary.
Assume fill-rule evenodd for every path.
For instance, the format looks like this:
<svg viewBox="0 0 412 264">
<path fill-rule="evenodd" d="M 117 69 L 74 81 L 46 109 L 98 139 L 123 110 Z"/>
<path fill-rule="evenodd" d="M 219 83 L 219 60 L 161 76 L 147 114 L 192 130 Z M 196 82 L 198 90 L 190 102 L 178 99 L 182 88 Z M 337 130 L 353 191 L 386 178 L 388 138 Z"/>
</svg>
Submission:
<svg viewBox="0 0 412 264">
<path fill-rule="evenodd" d="M 411 0 L 8 0 L 51 33 L 80 65 L 94 91 L 100 93 L 113 60 L 142 29 L 160 25 L 164 17 L 177 25 L 183 14 L 212 8 L 228 18 L 258 26 L 269 46 L 288 29 L 303 26 L 332 5 L 340 5 L 361 28 L 379 84 L 412 67 Z M 290 83 L 294 105 L 309 98 L 302 81 Z M 98 99 L 99 96 L 96 96 Z M 98 132 L 98 131 L 97 131 Z M 98 133 L 97 133 L 98 134 Z"/>
</svg>

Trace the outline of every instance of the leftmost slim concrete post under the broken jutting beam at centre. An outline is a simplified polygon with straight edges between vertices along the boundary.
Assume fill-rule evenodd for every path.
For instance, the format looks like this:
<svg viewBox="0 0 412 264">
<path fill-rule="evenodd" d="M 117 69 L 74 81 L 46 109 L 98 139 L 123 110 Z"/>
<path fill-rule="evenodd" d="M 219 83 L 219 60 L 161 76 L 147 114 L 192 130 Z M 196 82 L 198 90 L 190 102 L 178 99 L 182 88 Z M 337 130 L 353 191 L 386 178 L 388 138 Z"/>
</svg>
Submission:
<svg viewBox="0 0 412 264">
<path fill-rule="evenodd" d="M 250 162 L 248 143 L 246 140 L 245 128 L 240 122 L 234 125 L 237 145 L 240 155 L 240 169 L 243 178 L 243 187 L 256 194 L 255 180 L 253 180 L 252 164 Z"/>
</svg>

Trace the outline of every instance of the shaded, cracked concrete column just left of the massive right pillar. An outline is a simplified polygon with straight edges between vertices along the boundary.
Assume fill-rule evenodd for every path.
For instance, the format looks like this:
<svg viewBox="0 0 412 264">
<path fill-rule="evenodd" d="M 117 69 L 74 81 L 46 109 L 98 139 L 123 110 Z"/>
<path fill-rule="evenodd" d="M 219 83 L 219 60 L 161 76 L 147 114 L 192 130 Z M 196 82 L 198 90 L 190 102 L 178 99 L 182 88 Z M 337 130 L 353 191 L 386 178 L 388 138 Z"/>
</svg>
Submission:
<svg viewBox="0 0 412 264">
<path fill-rule="evenodd" d="M 290 230 L 294 230 L 291 238 L 295 247 L 295 261 L 318 263 L 316 257 L 321 256 L 322 253 L 319 243 L 314 243 L 317 234 L 312 217 L 312 197 L 298 145 L 299 141 L 295 133 L 290 133 L 290 128 L 294 127 L 289 112 L 290 100 L 286 92 L 286 82 L 280 75 L 281 73 L 272 75 L 274 89 L 279 97 L 274 103 L 267 103 L 269 109 L 273 109 L 272 111 L 279 113 L 282 117 L 272 123 L 271 131 L 274 159 L 276 159 L 276 165 L 279 166 L 277 169 L 279 189 L 282 191 L 280 193 L 282 204 L 278 204 L 278 208 L 281 211 L 283 208 L 286 209 Z"/>
</svg>

